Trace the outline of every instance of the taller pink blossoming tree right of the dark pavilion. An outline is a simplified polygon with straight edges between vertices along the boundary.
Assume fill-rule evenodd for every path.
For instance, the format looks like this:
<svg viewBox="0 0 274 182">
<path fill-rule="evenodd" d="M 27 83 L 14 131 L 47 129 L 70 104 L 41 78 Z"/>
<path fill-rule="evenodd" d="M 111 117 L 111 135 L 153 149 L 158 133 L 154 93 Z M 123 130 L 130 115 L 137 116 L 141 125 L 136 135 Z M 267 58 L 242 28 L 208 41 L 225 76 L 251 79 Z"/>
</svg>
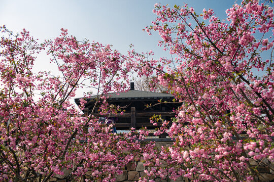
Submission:
<svg viewBox="0 0 274 182">
<path fill-rule="evenodd" d="M 250 160 L 273 168 L 274 24 L 267 4 L 235 4 L 226 21 L 212 9 L 197 14 L 187 5 L 155 5 L 157 18 L 145 30 L 157 31 L 174 59 L 139 57 L 140 74 L 158 74 L 182 107 L 172 127 L 161 126 L 174 145 L 145 154 L 158 166 L 148 176 L 255 181 L 260 176 Z"/>
</svg>

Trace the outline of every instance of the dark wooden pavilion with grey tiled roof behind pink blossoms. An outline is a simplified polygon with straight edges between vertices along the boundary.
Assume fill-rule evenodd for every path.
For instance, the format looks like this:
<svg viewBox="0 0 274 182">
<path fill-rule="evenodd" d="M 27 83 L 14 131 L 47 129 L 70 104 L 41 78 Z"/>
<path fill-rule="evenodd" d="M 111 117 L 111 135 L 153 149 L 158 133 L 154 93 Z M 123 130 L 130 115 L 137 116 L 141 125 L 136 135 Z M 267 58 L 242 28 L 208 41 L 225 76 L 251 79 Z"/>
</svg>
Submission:
<svg viewBox="0 0 274 182">
<path fill-rule="evenodd" d="M 119 108 L 123 108 L 123 114 L 108 114 L 100 115 L 98 107 L 92 115 L 95 117 L 115 117 L 114 125 L 117 130 L 125 130 L 131 127 L 140 129 L 141 127 L 147 127 L 148 129 L 154 129 L 159 127 L 153 125 L 150 122 L 150 118 L 153 115 L 161 115 L 163 120 L 171 120 L 176 113 L 174 109 L 177 109 L 180 104 L 174 102 L 174 96 L 171 94 L 146 92 L 134 89 L 134 82 L 130 83 L 130 90 L 125 93 L 109 93 L 107 102 L 109 105 Z M 79 106 L 80 99 L 75 99 L 75 103 Z M 84 112 L 90 114 L 96 103 L 97 96 L 86 98 Z M 149 107 L 148 107 L 149 106 Z M 159 123 L 160 124 L 160 123 Z"/>
</svg>

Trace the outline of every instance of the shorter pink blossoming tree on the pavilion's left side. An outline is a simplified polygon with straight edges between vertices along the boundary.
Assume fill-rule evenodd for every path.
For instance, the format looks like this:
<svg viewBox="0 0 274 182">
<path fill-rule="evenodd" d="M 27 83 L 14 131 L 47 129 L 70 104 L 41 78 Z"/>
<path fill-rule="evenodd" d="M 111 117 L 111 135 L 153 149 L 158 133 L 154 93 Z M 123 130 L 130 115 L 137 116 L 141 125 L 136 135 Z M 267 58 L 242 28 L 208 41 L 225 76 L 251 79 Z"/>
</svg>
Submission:
<svg viewBox="0 0 274 182">
<path fill-rule="evenodd" d="M 95 105 L 107 111 L 105 94 L 124 90 L 123 82 L 128 82 L 126 56 L 110 45 L 79 42 L 61 30 L 54 41 L 38 44 L 26 30 L 13 34 L 1 27 L 0 181 L 85 179 L 87 171 L 87 181 L 114 181 L 142 149 L 134 131 L 112 133 L 111 125 L 81 114 L 68 101 L 90 80 L 97 90 Z M 45 49 L 59 76 L 32 72 L 36 55 Z"/>
</svg>

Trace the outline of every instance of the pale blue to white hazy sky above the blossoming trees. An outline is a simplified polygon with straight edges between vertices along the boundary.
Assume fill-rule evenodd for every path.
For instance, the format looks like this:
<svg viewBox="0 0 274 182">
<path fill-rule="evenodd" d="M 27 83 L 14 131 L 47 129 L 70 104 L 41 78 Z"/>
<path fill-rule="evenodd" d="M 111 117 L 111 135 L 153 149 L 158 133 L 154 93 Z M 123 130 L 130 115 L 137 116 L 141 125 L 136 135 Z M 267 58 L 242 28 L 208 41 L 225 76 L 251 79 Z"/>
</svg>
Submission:
<svg viewBox="0 0 274 182">
<path fill-rule="evenodd" d="M 14 32 L 23 28 L 39 38 L 54 39 L 60 28 L 79 40 L 87 38 L 103 44 L 112 44 L 114 49 L 126 54 L 129 44 L 138 52 L 154 51 L 155 58 L 169 54 L 157 47 L 160 39 L 157 32 L 149 36 L 143 29 L 155 19 L 152 13 L 155 3 L 170 6 L 187 3 L 197 13 L 203 8 L 214 9 L 216 15 L 225 19 L 225 10 L 234 0 L 155 1 L 155 0 L 0 0 L 0 24 Z M 241 3 L 241 2 L 238 2 Z M 37 61 L 36 69 L 51 69 L 49 57 Z M 81 92 L 77 94 L 81 97 Z"/>
</svg>

